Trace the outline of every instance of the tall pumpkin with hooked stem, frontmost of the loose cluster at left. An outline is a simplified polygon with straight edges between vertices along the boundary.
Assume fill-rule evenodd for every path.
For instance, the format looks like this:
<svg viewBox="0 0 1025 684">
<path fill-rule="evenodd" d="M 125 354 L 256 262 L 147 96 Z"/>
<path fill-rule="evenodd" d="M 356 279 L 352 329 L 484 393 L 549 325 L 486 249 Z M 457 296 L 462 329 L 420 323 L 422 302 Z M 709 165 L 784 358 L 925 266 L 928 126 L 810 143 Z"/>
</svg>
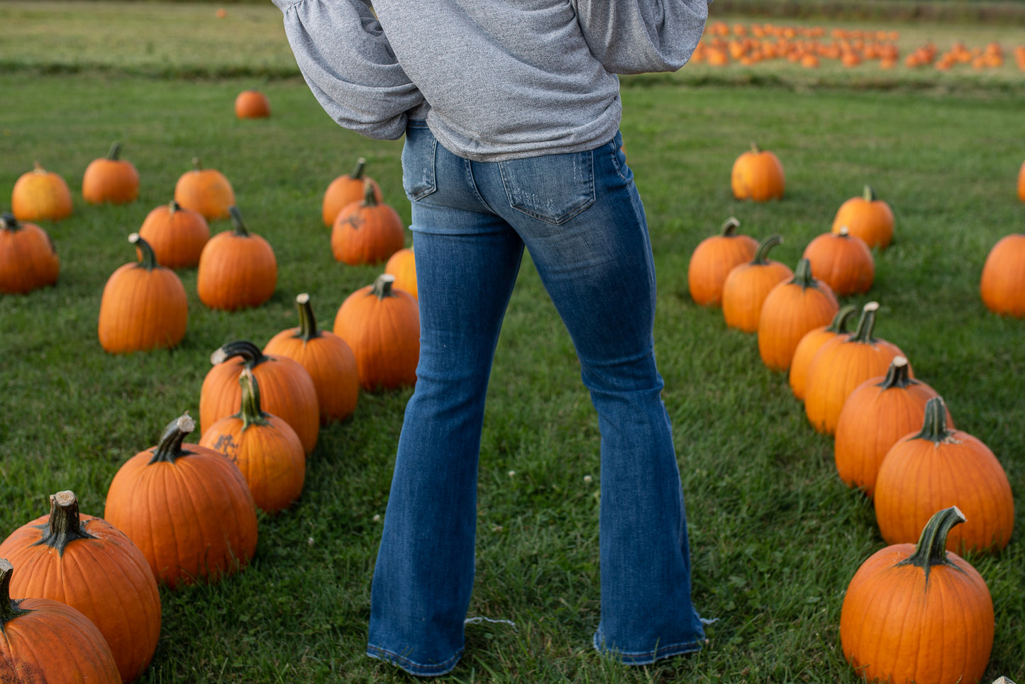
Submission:
<svg viewBox="0 0 1025 684">
<path fill-rule="evenodd" d="M 99 344 L 118 354 L 176 347 L 189 323 L 186 288 L 173 270 L 157 263 L 137 232 L 128 242 L 142 258 L 118 267 L 107 280 L 99 300 Z"/>
</svg>

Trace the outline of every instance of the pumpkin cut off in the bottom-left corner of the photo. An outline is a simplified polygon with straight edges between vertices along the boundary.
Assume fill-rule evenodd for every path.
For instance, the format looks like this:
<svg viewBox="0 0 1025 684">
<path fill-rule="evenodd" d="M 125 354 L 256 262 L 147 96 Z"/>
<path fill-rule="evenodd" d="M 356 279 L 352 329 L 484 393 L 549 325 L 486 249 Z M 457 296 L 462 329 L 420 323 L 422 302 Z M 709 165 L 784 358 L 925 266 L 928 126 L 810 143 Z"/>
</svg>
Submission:
<svg viewBox="0 0 1025 684">
<path fill-rule="evenodd" d="M 10 561 L 0 558 L 0 682 L 121 684 L 96 626 L 60 601 L 11 599 L 13 574 Z"/>
</svg>

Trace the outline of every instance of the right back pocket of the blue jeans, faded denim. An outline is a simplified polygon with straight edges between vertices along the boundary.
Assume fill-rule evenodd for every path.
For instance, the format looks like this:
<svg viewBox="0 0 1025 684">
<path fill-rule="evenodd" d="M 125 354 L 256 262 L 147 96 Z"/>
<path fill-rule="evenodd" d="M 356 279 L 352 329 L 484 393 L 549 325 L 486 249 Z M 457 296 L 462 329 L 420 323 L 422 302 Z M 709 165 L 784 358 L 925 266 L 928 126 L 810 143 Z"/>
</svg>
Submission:
<svg viewBox="0 0 1025 684">
<path fill-rule="evenodd" d="M 509 206 L 541 221 L 564 223 L 594 204 L 592 151 L 498 162 Z"/>
</svg>

